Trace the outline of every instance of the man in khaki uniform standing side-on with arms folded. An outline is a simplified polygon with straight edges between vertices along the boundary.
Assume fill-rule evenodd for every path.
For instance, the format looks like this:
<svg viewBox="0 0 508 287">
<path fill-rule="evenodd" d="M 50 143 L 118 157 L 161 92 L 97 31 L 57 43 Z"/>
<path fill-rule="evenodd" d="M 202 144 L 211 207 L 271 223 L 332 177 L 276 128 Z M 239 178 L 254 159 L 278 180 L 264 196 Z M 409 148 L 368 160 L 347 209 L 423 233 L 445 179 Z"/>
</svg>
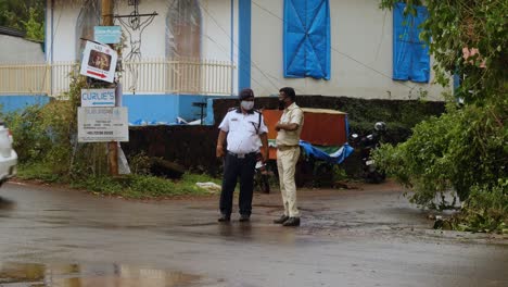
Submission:
<svg viewBox="0 0 508 287">
<path fill-rule="evenodd" d="M 304 123 L 302 109 L 294 102 L 296 95 L 293 88 L 279 90 L 279 105 L 284 111 L 276 125 L 277 133 L 277 170 L 279 171 L 280 194 L 284 214 L 274 223 L 283 226 L 300 226 L 300 211 L 296 205 L 296 184 L 294 172 L 300 157 L 300 134 Z"/>
</svg>

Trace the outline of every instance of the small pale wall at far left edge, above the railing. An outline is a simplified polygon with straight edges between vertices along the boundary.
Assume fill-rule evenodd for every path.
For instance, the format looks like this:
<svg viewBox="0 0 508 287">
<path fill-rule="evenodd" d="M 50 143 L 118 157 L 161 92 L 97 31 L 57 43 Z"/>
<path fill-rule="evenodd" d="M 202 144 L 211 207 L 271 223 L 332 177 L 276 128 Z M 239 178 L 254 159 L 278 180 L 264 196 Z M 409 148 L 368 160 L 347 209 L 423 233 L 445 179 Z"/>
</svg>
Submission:
<svg viewBox="0 0 508 287">
<path fill-rule="evenodd" d="M 24 38 L 0 35 L 0 63 L 43 63 L 42 45 Z"/>
</svg>

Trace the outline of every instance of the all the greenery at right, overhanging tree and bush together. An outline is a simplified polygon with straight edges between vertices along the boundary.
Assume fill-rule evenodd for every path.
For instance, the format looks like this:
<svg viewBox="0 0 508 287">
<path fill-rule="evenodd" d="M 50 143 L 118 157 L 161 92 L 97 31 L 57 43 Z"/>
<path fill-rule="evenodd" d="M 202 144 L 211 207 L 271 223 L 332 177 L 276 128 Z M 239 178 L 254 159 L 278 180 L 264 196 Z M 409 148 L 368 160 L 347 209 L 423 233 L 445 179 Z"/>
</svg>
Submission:
<svg viewBox="0 0 508 287">
<path fill-rule="evenodd" d="M 396 2 L 401 1 L 381 0 L 380 7 L 392 9 Z M 403 2 L 407 14 L 422 4 Z M 508 225 L 508 0 L 424 4 L 429 17 L 420 38 L 435 59 L 435 80 L 447 86 L 458 74 L 461 83 L 453 95 L 445 95 L 445 114 L 417 125 L 408 141 L 382 147 L 376 159 L 415 190 L 414 202 L 432 207 L 444 198 L 440 195 L 453 190 L 469 209 L 462 214 L 501 214 L 495 220 L 461 220 L 474 222 L 478 229 L 501 230 Z M 501 208 L 488 210 L 493 201 Z"/>
</svg>

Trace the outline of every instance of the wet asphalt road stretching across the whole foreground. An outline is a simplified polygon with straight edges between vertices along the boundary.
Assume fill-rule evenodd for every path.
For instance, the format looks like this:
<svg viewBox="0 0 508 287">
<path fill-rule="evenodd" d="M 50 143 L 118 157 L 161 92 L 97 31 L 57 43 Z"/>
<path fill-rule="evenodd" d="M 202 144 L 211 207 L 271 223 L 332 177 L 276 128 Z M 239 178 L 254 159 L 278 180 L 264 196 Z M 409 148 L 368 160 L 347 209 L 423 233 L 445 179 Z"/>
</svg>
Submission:
<svg viewBox="0 0 508 287">
<path fill-rule="evenodd" d="M 218 224 L 217 197 L 127 201 L 0 188 L 0 286 L 508 286 L 508 239 L 432 230 L 393 185 L 302 190 L 303 225 Z"/>
</svg>

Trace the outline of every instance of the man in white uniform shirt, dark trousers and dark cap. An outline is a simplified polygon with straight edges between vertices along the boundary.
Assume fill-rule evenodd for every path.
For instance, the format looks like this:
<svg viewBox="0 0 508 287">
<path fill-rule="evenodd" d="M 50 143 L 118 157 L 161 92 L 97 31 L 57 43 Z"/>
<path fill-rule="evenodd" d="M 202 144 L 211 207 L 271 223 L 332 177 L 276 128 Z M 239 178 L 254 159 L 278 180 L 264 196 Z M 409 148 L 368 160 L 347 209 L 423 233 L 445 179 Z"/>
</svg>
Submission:
<svg viewBox="0 0 508 287">
<path fill-rule="evenodd" d="M 219 125 L 217 158 L 225 158 L 223 190 L 220 194 L 219 222 L 229 222 L 237 180 L 240 177 L 240 222 L 251 219 L 254 173 L 259 152 L 265 161 L 268 157 L 268 128 L 263 114 L 254 110 L 254 91 L 243 89 L 239 93 L 240 107 L 231 109 Z M 227 150 L 224 145 L 227 139 Z M 259 139 L 262 147 L 259 147 Z"/>
</svg>

